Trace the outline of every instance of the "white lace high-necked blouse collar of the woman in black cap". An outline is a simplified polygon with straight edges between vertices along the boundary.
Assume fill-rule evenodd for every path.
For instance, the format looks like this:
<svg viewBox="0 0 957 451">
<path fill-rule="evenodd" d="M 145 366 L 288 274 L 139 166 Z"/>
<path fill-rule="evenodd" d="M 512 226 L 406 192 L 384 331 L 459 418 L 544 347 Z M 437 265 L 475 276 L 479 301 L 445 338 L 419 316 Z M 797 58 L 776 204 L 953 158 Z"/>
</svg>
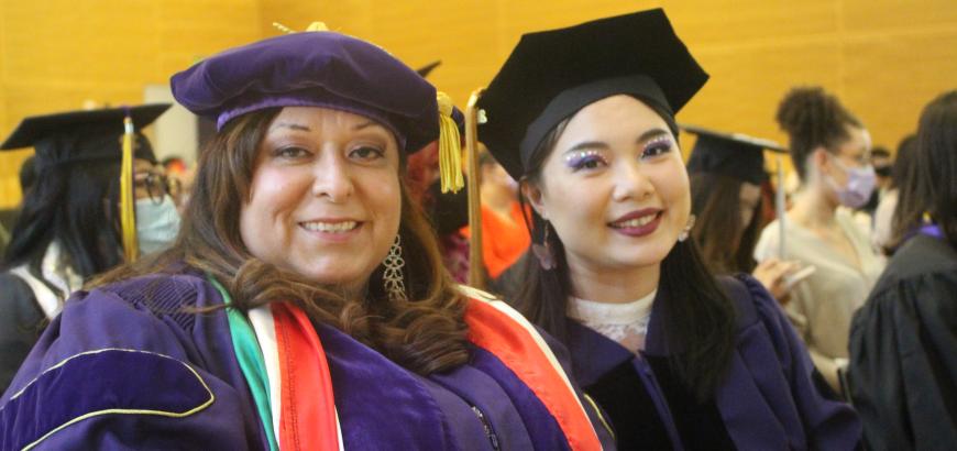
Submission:
<svg viewBox="0 0 957 451">
<path fill-rule="evenodd" d="M 569 317 L 637 353 L 645 349 L 654 294 L 624 304 L 569 298 Z"/>
</svg>

